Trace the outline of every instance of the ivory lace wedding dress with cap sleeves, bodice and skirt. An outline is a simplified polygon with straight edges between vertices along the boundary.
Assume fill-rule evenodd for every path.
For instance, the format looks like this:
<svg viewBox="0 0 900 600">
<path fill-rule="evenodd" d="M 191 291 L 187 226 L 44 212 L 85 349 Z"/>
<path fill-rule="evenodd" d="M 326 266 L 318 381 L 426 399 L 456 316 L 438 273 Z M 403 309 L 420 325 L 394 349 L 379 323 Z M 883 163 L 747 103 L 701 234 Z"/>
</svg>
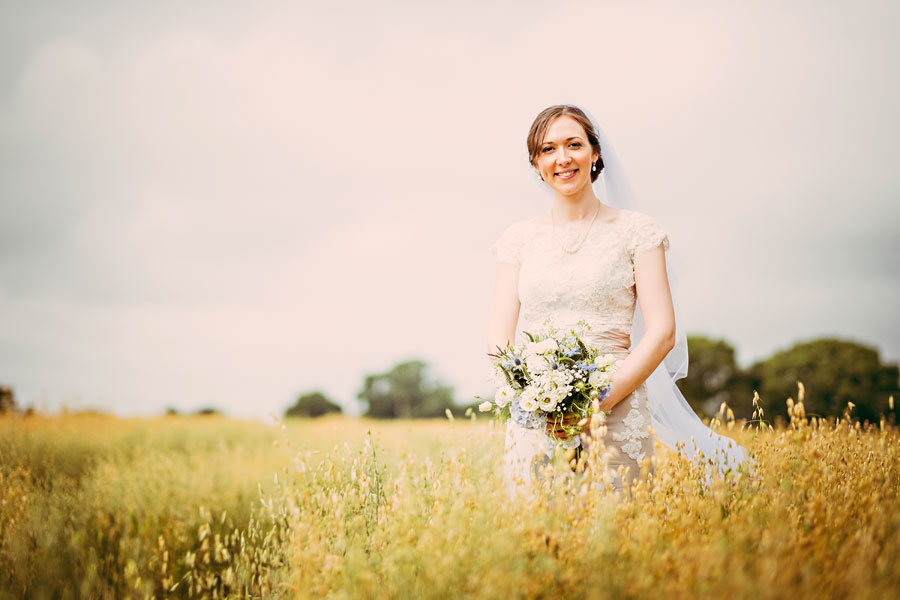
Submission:
<svg viewBox="0 0 900 600">
<path fill-rule="evenodd" d="M 584 235 L 583 228 L 581 223 L 557 225 L 554 237 L 549 221 L 520 221 L 491 250 L 499 261 L 519 266 L 519 332 L 537 329 L 548 320 L 563 330 L 585 321 L 591 328 L 585 341 L 621 358 L 631 345 L 634 259 L 660 244 L 667 249 L 669 240 L 647 215 L 619 210 L 611 219 L 598 219 L 576 253 L 564 252 L 560 243 L 572 247 Z M 610 483 L 621 490 L 640 475 L 641 463 L 654 455 L 645 384 L 613 407 L 606 426 L 603 442 L 613 449 Z M 514 412 L 507 422 L 504 451 L 507 486 L 512 490 L 532 481 L 553 448 L 542 423 Z M 619 467 L 624 467 L 624 474 Z"/>
</svg>

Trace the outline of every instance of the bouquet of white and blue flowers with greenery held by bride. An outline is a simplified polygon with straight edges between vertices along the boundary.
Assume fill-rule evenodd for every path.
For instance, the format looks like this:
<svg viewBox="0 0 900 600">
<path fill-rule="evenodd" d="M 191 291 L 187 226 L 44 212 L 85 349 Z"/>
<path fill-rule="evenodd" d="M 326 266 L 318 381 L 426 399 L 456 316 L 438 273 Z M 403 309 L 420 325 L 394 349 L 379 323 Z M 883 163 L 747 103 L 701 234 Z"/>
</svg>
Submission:
<svg viewBox="0 0 900 600">
<path fill-rule="evenodd" d="M 584 343 L 589 329 L 583 321 L 563 333 L 545 324 L 534 334 L 525 332 L 527 342 L 498 347 L 488 355 L 497 393 L 479 410 L 494 410 L 504 421 L 512 418 L 520 426 L 549 430 L 557 441 L 578 445 L 578 434 L 609 394 L 617 366 L 615 356 L 601 355 Z"/>
</svg>

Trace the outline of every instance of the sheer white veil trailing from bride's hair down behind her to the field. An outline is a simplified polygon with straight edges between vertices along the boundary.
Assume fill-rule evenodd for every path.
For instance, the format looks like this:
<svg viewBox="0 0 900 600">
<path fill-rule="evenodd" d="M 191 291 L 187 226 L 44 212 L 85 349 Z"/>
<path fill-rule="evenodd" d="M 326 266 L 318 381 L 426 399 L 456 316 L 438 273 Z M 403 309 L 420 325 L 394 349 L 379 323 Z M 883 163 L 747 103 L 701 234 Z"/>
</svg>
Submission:
<svg viewBox="0 0 900 600">
<path fill-rule="evenodd" d="M 584 109 L 582 109 L 584 110 Z M 588 114 L 585 111 L 585 114 Z M 601 156 L 604 168 L 594 183 L 597 196 L 614 208 L 638 210 L 638 204 L 632 192 L 622 164 L 616 156 L 609 138 L 597 126 L 591 117 L 600 140 Z M 673 251 L 668 251 L 666 260 L 669 285 L 674 288 L 677 278 L 677 259 Z M 674 297 L 674 291 L 673 291 Z M 688 459 L 709 459 L 722 473 L 728 468 L 736 468 L 747 460 L 744 449 L 731 438 L 722 436 L 703 424 L 684 399 L 675 385 L 678 379 L 687 375 L 688 348 L 687 336 L 677 318 L 675 347 L 669 352 L 659 367 L 647 378 L 646 386 L 650 403 L 650 418 L 656 436 L 669 448 L 681 453 Z M 632 347 L 637 345 L 644 335 L 644 320 L 641 315 L 640 302 L 635 307 L 632 326 Z M 709 464 L 709 463 L 707 463 Z"/>
</svg>

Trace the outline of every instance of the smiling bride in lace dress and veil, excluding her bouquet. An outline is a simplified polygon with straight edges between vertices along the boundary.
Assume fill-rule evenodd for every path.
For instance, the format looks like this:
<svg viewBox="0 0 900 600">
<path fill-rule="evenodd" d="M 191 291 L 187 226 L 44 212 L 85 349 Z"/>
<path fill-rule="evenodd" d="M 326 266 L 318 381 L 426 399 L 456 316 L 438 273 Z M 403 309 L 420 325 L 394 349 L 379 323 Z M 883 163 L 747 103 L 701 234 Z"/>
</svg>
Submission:
<svg viewBox="0 0 900 600">
<path fill-rule="evenodd" d="M 743 462 L 743 449 L 710 432 L 674 384 L 686 373 L 687 353 L 683 335 L 676 338 L 669 240 L 653 219 L 628 209 L 633 205 L 609 142 L 584 111 L 558 105 L 537 116 L 527 145 L 554 200 L 549 214 L 514 223 L 491 247 L 497 271 L 489 351 L 514 342 L 517 329 L 533 331 L 549 320 L 568 330 L 587 322 L 585 341 L 619 359 L 600 403 L 607 416 L 599 435 L 612 450 L 614 490 L 627 489 L 642 465 L 654 470 L 651 426 L 672 449 L 688 457 L 702 452 L 722 471 Z M 601 174 L 607 203 L 592 185 Z M 511 490 L 532 481 L 552 455 L 548 433 L 552 424 L 523 414 L 513 401 L 504 452 Z"/>
</svg>

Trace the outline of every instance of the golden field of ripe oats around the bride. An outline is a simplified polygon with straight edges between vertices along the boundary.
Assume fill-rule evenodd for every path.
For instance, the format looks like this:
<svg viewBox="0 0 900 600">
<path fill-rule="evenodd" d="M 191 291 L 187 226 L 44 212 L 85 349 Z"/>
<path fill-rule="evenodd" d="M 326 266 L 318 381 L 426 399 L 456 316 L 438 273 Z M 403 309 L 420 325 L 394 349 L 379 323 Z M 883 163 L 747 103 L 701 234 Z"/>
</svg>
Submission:
<svg viewBox="0 0 900 600">
<path fill-rule="evenodd" d="M 895 427 L 728 433 L 757 477 L 707 487 L 660 449 L 628 499 L 560 477 L 511 501 L 484 418 L 5 417 L 0 597 L 896 594 Z"/>
</svg>

